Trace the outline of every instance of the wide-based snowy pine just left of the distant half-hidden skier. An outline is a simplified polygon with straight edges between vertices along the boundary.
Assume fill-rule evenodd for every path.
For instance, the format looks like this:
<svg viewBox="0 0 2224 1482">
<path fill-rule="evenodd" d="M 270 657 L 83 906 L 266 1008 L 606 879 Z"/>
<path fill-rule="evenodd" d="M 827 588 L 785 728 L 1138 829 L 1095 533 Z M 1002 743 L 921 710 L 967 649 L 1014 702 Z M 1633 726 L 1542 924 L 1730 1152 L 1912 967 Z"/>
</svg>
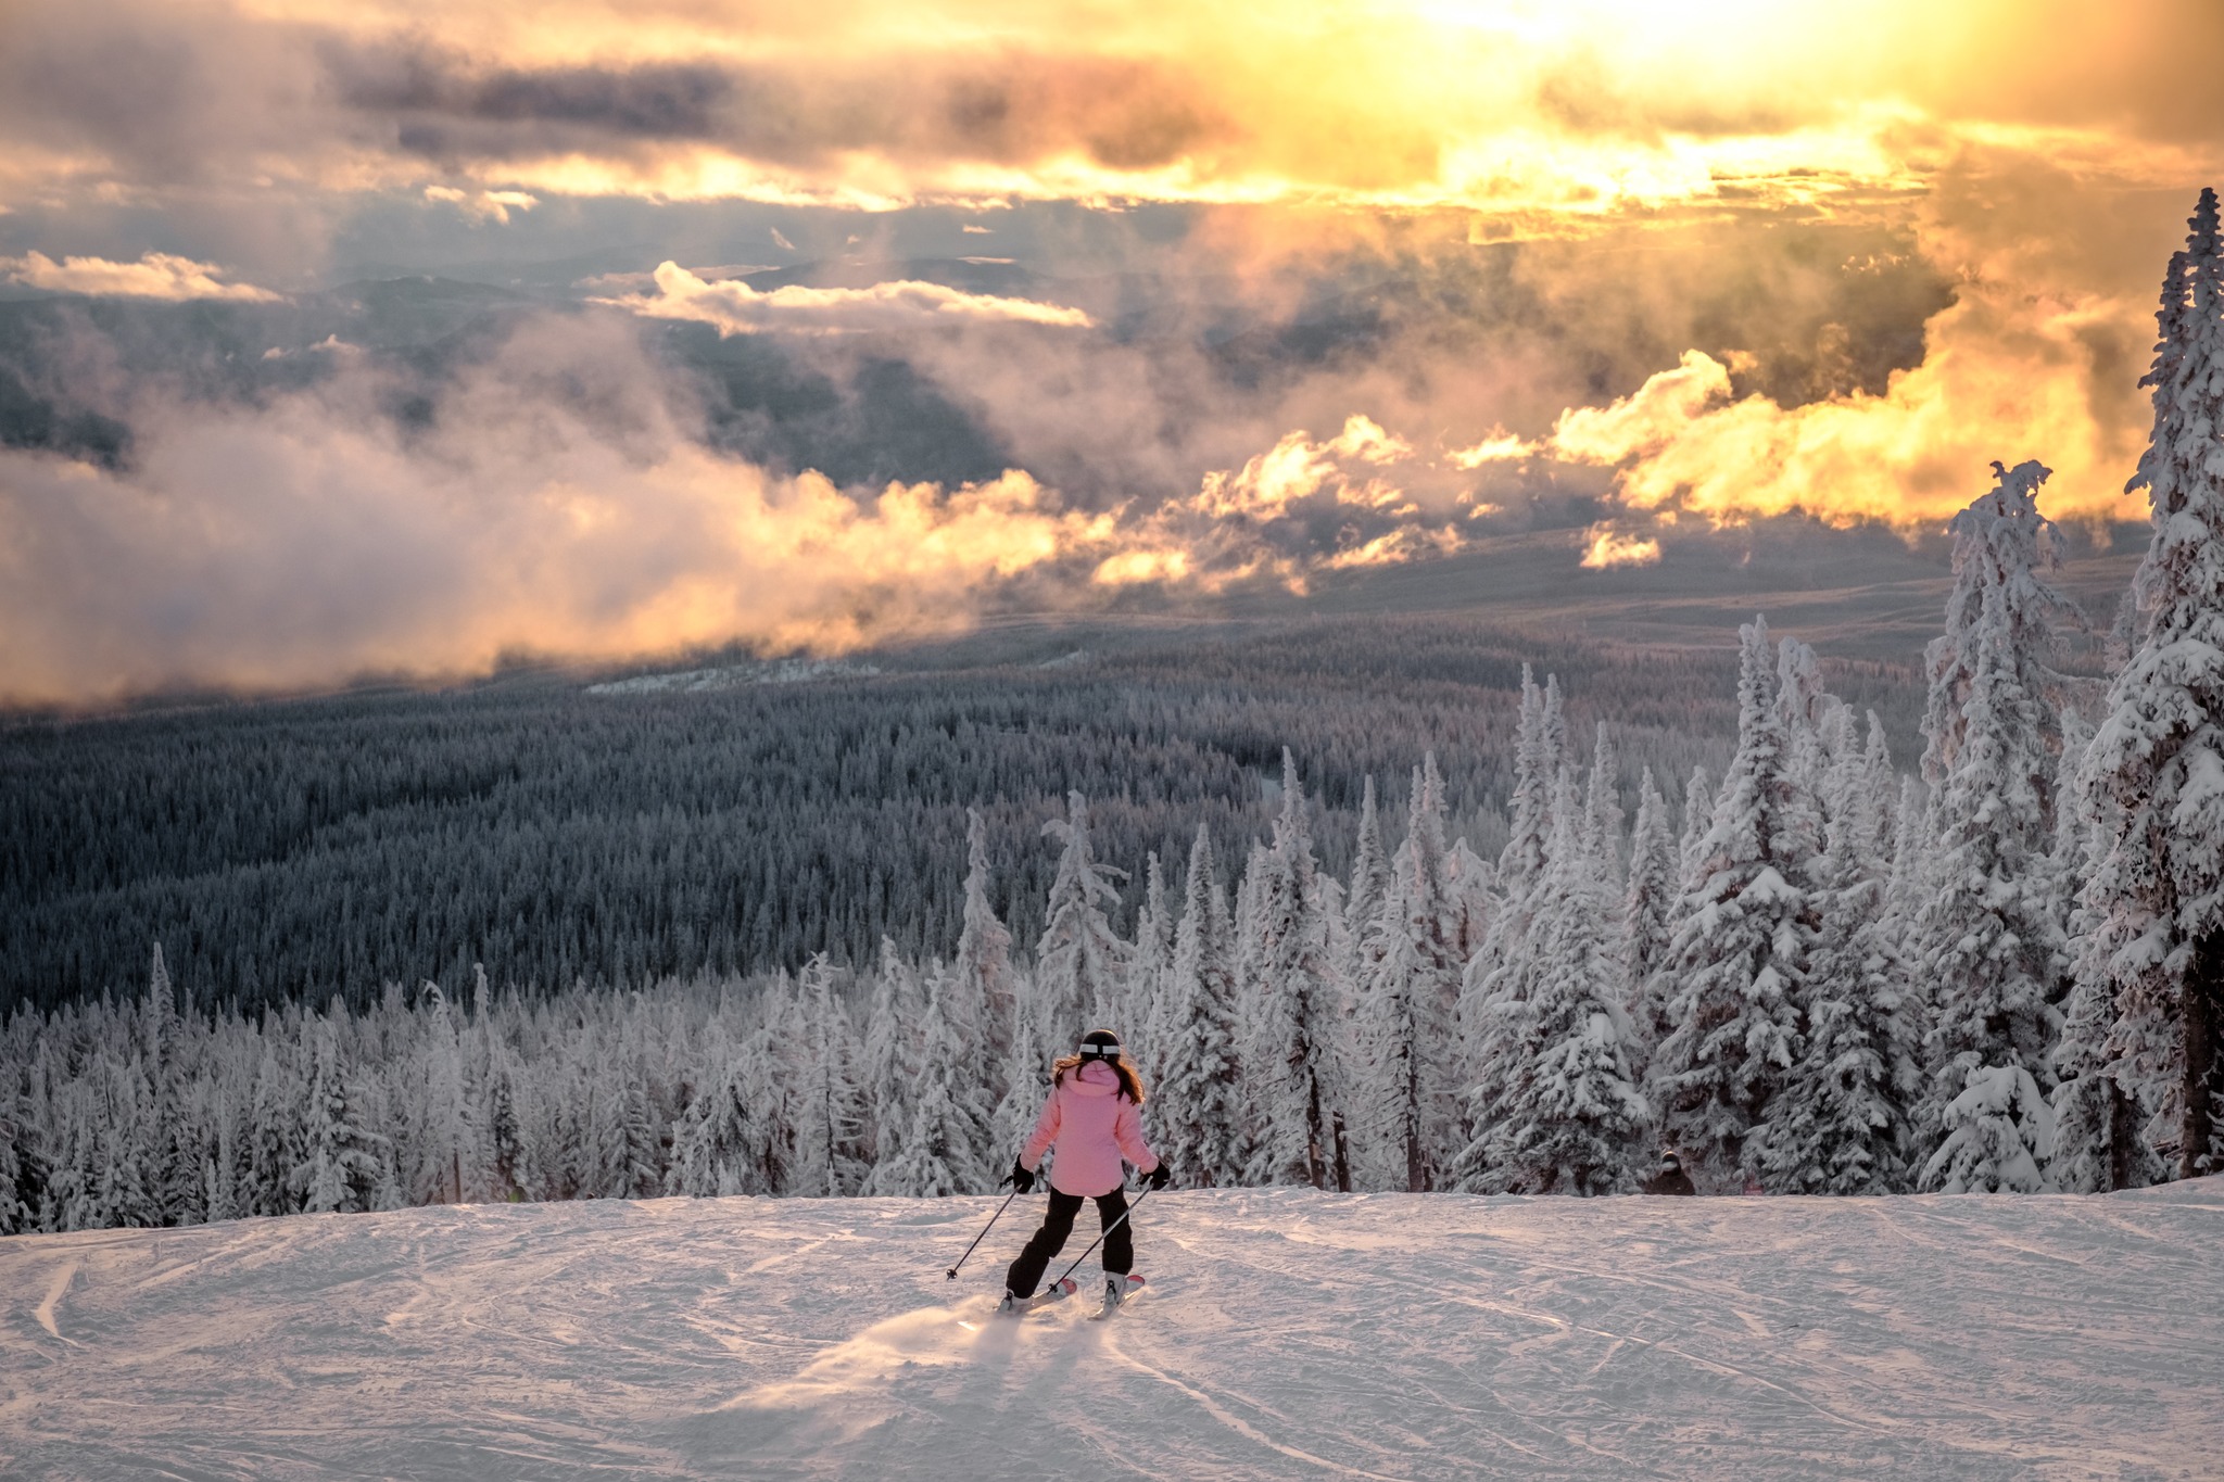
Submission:
<svg viewBox="0 0 2224 1482">
<path fill-rule="evenodd" d="M 1579 807 L 1566 769 L 1552 800 L 1552 833 L 1519 989 L 1495 993 L 1486 1013 L 1508 1015 L 1488 1035 L 1508 1053 L 1492 1104 L 1477 1109 L 1477 1140 L 1461 1155 L 1463 1189 L 1477 1193 L 1626 1193 L 1637 1142 L 1652 1120 L 1637 1091 L 1635 1035 L 1621 1007 L 1621 969 L 1608 922 L 1606 831 Z"/>
</svg>

